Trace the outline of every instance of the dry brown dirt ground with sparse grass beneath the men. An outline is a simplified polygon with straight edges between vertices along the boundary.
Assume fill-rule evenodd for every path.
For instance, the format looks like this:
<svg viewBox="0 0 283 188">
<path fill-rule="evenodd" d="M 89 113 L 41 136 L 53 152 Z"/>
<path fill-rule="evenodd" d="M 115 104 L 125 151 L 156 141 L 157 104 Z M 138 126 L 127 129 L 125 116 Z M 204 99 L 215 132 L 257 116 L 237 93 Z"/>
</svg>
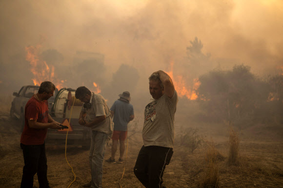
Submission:
<svg viewBox="0 0 283 188">
<path fill-rule="evenodd" d="M 142 117 L 129 124 L 128 150 L 125 164 L 103 164 L 103 187 L 105 188 L 142 188 L 135 177 L 133 168 L 142 147 Z M 176 143 L 169 166 L 163 179 L 167 188 L 202 187 L 205 179 L 205 153 L 209 145 L 219 152 L 219 187 L 283 187 L 283 125 L 254 125 L 237 130 L 240 139 L 239 163 L 227 164 L 229 151 L 229 128 L 225 125 L 184 125 L 178 116 L 175 118 Z M 180 135 L 184 126 L 198 129 L 202 145 L 193 153 L 188 146 L 180 144 Z M 118 151 L 119 152 L 119 151 Z M 80 188 L 90 180 L 88 150 L 67 146 L 67 160 L 76 174 L 71 188 Z M 51 187 L 67 188 L 75 179 L 72 169 L 65 159 L 65 146 L 46 146 L 48 161 L 48 180 Z M 105 153 L 105 159 L 111 155 L 111 142 Z M 116 153 L 118 158 L 118 153 Z M 20 150 L 20 132 L 17 120 L 0 115 L 0 187 L 20 187 L 23 156 Z M 124 170 L 125 167 L 125 170 Z M 124 170 L 124 174 L 123 174 Z M 123 174 L 123 178 L 121 179 Z M 121 180 L 121 183 L 120 183 Z M 212 187 L 212 185 L 210 185 Z M 35 175 L 34 188 L 39 184 Z M 208 185 L 209 187 L 209 185 Z"/>
</svg>

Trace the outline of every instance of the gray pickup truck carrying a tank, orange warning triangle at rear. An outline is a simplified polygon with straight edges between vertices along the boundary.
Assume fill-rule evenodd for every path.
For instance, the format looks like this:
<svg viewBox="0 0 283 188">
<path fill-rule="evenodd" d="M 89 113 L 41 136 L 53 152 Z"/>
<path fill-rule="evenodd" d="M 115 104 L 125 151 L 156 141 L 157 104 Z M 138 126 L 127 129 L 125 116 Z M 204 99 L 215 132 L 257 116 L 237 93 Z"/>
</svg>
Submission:
<svg viewBox="0 0 283 188">
<path fill-rule="evenodd" d="M 36 94 L 39 86 L 23 86 L 15 96 L 11 104 L 10 116 L 19 119 L 19 131 L 22 132 L 24 126 L 24 108 L 27 101 Z M 75 90 L 63 88 L 56 89 L 54 96 L 48 99 L 49 114 L 55 121 L 68 126 L 68 145 L 82 146 L 85 149 L 90 147 L 89 128 L 79 125 L 79 115 L 82 102 L 75 98 Z M 70 122 L 70 123 L 69 123 Z M 67 129 L 53 130 L 48 129 L 46 144 L 61 145 L 65 144 Z"/>
</svg>

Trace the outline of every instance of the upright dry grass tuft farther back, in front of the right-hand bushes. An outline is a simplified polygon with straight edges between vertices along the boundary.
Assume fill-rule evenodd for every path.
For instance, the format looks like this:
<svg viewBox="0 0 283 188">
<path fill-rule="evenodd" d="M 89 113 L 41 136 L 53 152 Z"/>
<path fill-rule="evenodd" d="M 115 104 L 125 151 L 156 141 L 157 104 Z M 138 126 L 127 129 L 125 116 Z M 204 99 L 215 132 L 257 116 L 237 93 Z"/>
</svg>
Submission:
<svg viewBox="0 0 283 188">
<path fill-rule="evenodd" d="M 228 164 L 237 165 L 238 164 L 238 153 L 239 153 L 239 136 L 238 133 L 234 131 L 233 128 L 230 129 L 230 138 L 229 138 L 229 155 L 228 155 Z"/>
</svg>

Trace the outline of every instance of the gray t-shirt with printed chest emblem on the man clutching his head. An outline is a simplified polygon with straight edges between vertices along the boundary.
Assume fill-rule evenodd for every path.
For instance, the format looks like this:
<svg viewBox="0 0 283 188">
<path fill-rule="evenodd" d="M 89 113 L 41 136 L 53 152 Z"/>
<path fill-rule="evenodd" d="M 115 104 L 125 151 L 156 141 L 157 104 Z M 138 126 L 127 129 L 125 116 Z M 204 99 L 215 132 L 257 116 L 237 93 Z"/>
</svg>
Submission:
<svg viewBox="0 0 283 188">
<path fill-rule="evenodd" d="M 163 94 L 159 99 L 146 105 L 142 139 L 144 146 L 162 146 L 173 148 L 175 131 L 174 115 L 178 103 L 175 91 L 172 98 Z"/>
</svg>

